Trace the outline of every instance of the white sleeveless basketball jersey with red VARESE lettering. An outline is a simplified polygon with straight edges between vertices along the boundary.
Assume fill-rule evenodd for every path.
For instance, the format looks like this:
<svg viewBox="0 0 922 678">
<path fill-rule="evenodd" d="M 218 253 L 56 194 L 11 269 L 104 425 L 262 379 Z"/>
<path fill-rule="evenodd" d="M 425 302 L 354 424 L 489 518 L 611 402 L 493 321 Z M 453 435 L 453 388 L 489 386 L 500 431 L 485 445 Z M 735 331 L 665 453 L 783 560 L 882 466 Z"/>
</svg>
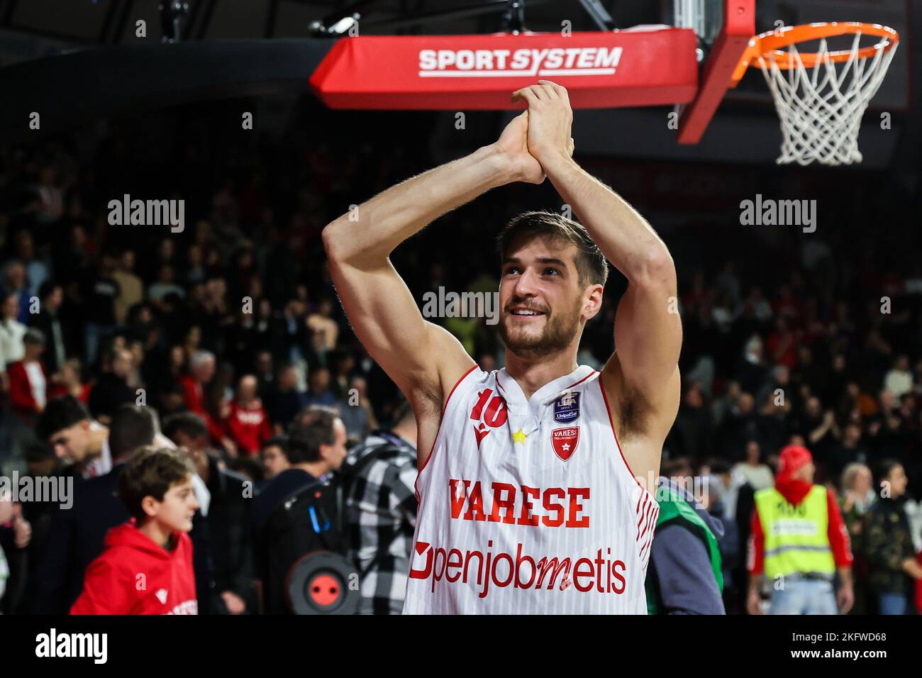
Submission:
<svg viewBox="0 0 922 678">
<path fill-rule="evenodd" d="M 505 369 L 455 385 L 417 479 L 404 613 L 646 614 L 659 506 L 591 367 L 526 400 Z"/>
</svg>

